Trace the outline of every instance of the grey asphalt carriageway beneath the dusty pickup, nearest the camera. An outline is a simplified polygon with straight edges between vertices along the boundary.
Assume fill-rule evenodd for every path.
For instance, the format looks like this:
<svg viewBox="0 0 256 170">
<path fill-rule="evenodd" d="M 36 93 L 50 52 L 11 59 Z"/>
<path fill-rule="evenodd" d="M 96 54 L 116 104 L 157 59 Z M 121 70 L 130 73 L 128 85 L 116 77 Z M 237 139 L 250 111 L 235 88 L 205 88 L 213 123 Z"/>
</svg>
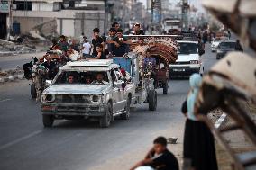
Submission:
<svg viewBox="0 0 256 170">
<path fill-rule="evenodd" d="M 207 48 L 203 58 L 208 70 L 215 54 Z M 143 104 L 130 120 L 114 120 L 107 129 L 93 121 L 56 121 L 52 129 L 44 129 L 28 84 L 23 80 L 0 85 L 0 169 L 128 169 L 159 135 L 178 137 L 170 150 L 182 155 L 185 118 L 180 106 L 187 96 L 187 79 L 170 80 L 168 95 L 158 91 L 156 112 Z"/>
</svg>

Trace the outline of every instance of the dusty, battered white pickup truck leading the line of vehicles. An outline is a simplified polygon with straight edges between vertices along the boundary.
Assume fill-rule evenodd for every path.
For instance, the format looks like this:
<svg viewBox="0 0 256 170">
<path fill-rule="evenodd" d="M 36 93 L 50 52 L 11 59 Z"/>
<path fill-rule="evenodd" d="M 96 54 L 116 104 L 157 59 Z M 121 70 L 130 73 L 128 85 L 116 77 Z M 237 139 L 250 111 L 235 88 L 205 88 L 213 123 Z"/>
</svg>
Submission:
<svg viewBox="0 0 256 170">
<path fill-rule="evenodd" d="M 118 65 L 110 59 L 69 62 L 59 68 L 52 84 L 41 94 L 42 122 L 91 119 L 108 127 L 114 116 L 129 119 L 133 83 L 123 82 Z"/>
</svg>

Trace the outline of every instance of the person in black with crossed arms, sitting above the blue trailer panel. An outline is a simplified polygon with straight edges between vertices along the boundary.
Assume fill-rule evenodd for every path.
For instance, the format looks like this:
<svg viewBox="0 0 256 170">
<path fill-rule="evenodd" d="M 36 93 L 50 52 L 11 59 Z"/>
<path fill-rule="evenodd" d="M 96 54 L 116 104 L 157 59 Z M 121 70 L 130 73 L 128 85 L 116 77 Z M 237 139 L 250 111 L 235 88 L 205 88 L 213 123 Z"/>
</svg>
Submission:
<svg viewBox="0 0 256 170">
<path fill-rule="evenodd" d="M 113 43 L 110 45 L 110 51 L 114 56 L 123 57 L 125 53 L 129 52 L 129 44 L 131 44 L 131 40 L 123 37 L 123 30 L 119 29 L 116 31 Z"/>
</svg>

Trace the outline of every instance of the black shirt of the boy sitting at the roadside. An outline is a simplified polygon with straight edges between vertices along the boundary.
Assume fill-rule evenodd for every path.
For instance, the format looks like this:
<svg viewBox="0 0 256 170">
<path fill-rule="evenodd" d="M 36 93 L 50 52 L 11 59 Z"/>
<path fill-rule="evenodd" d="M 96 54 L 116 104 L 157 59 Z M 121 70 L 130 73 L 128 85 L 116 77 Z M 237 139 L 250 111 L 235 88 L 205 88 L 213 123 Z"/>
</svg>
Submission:
<svg viewBox="0 0 256 170">
<path fill-rule="evenodd" d="M 157 170 L 178 170 L 178 160 L 168 149 L 159 156 L 152 157 L 152 160 L 148 166 Z"/>
</svg>

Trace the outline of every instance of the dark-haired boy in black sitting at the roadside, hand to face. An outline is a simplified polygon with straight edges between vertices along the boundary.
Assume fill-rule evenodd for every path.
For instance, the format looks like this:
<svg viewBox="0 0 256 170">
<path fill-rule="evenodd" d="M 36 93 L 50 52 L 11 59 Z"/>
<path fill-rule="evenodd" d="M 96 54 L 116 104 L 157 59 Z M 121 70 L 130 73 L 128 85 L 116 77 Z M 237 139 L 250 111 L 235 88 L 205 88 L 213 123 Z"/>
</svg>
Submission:
<svg viewBox="0 0 256 170">
<path fill-rule="evenodd" d="M 133 166 L 131 170 L 178 170 L 178 160 L 168 150 L 167 139 L 158 137 L 153 143 L 153 148 L 144 160 Z"/>
</svg>

